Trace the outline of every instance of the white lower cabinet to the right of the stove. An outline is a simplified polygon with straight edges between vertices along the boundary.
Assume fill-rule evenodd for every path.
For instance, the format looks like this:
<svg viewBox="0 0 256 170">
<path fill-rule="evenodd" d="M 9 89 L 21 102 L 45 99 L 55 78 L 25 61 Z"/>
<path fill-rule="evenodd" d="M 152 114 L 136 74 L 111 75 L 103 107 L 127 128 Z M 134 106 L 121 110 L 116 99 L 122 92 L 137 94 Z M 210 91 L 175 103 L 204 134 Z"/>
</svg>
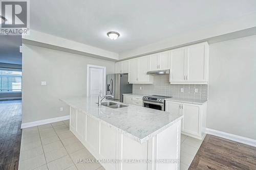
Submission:
<svg viewBox="0 0 256 170">
<path fill-rule="evenodd" d="M 206 107 L 207 103 L 203 105 L 172 101 L 165 103 L 166 111 L 183 115 L 181 133 L 198 139 L 202 139 L 205 135 Z"/>
</svg>

